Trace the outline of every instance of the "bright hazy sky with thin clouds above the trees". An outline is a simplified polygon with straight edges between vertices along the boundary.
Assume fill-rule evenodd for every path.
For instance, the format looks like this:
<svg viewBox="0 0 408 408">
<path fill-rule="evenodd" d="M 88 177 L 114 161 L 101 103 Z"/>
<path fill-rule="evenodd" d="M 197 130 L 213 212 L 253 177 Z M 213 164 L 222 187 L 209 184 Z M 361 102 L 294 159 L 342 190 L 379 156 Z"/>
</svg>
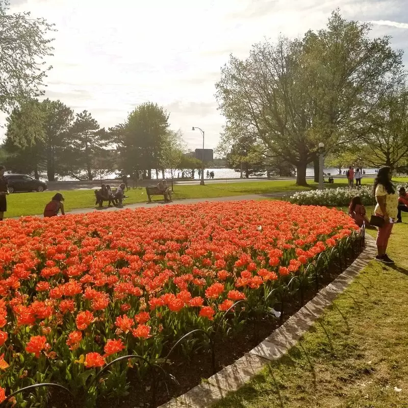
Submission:
<svg viewBox="0 0 408 408">
<path fill-rule="evenodd" d="M 101 126 L 123 122 L 151 101 L 170 114 L 189 148 L 215 148 L 225 119 L 215 83 L 230 54 L 246 58 L 252 44 L 280 34 L 302 37 L 325 26 L 340 8 L 347 19 L 371 21 L 373 36 L 390 35 L 405 50 L 406 0 L 11 0 L 11 11 L 30 11 L 55 23 L 53 65 L 46 97 L 75 113 L 91 112 Z M 0 124 L 4 124 L 0 116 Z M 0 137 L 2 136 L 0 129 Z"/>
</svg>

